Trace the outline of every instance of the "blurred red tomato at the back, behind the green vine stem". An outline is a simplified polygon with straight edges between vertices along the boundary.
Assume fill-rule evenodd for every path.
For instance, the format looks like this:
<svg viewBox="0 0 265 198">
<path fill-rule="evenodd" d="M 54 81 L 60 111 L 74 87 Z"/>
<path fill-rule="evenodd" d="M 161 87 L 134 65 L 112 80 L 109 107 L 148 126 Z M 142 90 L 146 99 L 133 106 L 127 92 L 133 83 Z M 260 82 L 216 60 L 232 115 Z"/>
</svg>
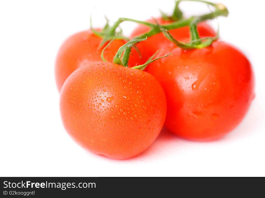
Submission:
<svg viewBox="0 0 265 198">
<path fill-rule="evenodd" d="M 159 24 L 168 24 L 172 21 L 166 21 L 162 18 L 156 19 Z M 154 19 L 148 20 L 150 23 L 156 23 Z M 201 22 L 197 26 L 198 33 L 201 36 L 201 38 L 206 36 L 216 36 L 215 31 L 205 22 Z M 139 36 L 143 33 L 146 33 L 150 30 L 150 27 L 140 24 L 131 34 L 131 38 L 135 36 Z M 172 36 L 182 41 L 182 39 L 189 37 L 189 26 L 181 27 L 177 29 L 173 29 L 169 31 Z M 137 48 L 139 49 L 141 55 L 142 55 L 142 62 L 145 62 L 148 60 L 150 56 L 152 56 L 157 50 L 163 49 L 165 46 L 173 46 L 173 43 L 170 42 L 163 33 L 158 33 L 154 36 L 150 36 L 147 38 L 145 42 L 139 42 L 136 44 Z"/>
</svg>

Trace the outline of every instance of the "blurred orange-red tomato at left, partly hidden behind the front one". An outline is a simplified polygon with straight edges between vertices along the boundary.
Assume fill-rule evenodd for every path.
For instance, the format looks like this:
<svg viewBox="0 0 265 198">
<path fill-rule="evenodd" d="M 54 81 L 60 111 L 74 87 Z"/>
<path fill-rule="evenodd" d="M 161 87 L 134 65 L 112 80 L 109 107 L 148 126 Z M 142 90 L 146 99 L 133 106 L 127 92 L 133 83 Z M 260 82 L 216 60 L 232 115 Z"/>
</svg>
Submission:
<svg viewBox="0 0 265 198">
<path fill-rule="evenodd" d="M 96 36 L 91 30 L 87 30 L 70 36 L 63 43 L 55 63 L 55 78 L 59 91 L 67 77 L 77 68 L 88 63 L 101 61 L 101 51 L 106 46 L 105 44 L 99 48 L 101 41 L 101 37 Z M 107 61 L 112 61 L 119 47 L 125 43 L 125 40 L 115 39 L 105 50 L 104 58 Z M 129 65 L 131 62 L 133 62 L 133 66 L 140 64 L 139 60 L 138 53 L 132 49 Z"/>
</svg>

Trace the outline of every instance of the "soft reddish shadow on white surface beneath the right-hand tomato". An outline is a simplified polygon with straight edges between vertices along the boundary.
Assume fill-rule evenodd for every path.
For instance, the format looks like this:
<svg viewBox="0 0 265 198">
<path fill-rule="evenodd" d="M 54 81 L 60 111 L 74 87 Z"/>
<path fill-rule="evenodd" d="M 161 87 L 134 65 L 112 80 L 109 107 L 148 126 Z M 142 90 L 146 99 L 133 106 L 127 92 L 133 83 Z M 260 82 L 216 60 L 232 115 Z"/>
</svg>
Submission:
<svg viewBox="0 0 265 198">
<path fill-rule="evenodd" d="M 132 160 L 144 160 L 145 158 L 159 159 L 165 155 L 177 155 L 178 150 L 185 149 L 185 147 L 191 146 L 191 144 L 223 144 L 224 142 L 231 142 L 234 140 L 240 140 L 250 137 L 254 133 L 259 133 L 259 128 L 264 122 L 264 109 L 259 100 L 255 99 L 242 122 L 234 130 L 228 133 L 226 136 L 213 141 L 192 141 L 186 140 L 168 131 L 165 127 L 162 128 L 161 133 L 154 141 L 154 143 L 139 155 L 127 159 Z"/>
</svg>

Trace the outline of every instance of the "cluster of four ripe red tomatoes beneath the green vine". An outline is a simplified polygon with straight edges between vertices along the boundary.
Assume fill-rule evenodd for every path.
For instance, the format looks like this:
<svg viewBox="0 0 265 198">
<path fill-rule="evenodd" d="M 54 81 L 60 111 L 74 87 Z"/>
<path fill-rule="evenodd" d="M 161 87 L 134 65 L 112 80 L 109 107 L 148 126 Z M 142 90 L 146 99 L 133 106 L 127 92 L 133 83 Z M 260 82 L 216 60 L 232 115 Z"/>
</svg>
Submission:
<svg viewBox="0 0 265 198">
<path fill-rule="evenodd" d="M 206 45 L 203 38 L 217 38 L 217 33 L 203 21 L 196 24 L 199 39 L 189 42 L 194 30 L 186 25 L 171 28 L 168 34 L 174 39 L 169 40 L 159 28 L 175 23 L 157 18 L 140 24 L 131 39 L 148 35 L 152 27 L 158 32 L 135 48 L 128 44 L 128 63 L 113 59 L 126 46 L 123 37 L 103 42 L 110 34 L 104 37 L 92 29 L 64 42 L 55 64 L 60 112 L 65 129 L 80 145 L 127 159 L 147 149 L 164 125 L 179 137 L 209 141 L 244 118 L 254 98 L 248 59 L 219 39 Z M 187 44 L 175 45 L 175 39 Z M 166 54 L 171 55 L 150 61 Z"/>
</svg>

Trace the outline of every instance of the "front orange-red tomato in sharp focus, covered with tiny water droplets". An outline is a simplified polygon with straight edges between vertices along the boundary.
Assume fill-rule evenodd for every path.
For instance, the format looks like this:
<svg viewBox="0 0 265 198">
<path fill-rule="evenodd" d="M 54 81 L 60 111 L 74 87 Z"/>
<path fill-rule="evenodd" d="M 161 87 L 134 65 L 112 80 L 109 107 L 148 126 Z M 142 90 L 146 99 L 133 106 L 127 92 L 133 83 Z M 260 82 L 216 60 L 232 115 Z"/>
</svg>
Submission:
<svg viewBox="0 0 265 198">
<path fill-rule="evenodd" d="M 83 147 L 127 159 L 147 149 L 160 133 L 166 97 L 145 71 L 95 62 L 67 78 L 60 111 L 67 132 Z"/>
</svg>

